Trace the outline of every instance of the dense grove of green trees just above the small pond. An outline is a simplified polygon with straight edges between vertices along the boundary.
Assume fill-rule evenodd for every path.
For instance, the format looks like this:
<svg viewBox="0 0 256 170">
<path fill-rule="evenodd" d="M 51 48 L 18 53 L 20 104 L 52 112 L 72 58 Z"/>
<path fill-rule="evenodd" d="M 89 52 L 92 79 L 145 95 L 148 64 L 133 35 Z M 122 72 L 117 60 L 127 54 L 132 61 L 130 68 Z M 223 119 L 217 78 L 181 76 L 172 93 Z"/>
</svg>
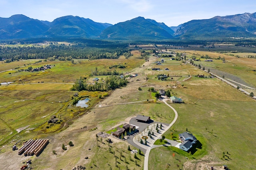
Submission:
<svg viewBox="0 0 256 170">
<path fill-rule="evenodd" d="M 75 84 L 70 90 L 106 91 L 114 90 L 118 87 L 125 86 L 127 83 L 128 80 L 115 75 L 107 76 L 105 78 L 105 82 L 95 82 L 94 84 L 87 84 L 86 80 L 80 77 L 80 79 L 76 80 Z"/>
</svg>

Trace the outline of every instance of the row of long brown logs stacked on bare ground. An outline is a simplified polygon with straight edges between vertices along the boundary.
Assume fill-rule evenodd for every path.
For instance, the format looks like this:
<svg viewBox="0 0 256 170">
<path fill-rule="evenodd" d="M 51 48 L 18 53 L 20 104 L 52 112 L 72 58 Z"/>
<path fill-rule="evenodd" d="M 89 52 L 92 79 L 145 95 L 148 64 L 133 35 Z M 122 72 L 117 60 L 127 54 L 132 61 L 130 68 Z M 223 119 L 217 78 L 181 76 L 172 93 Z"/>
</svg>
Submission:
<svg viewBox="0 0 256 170">
<path fill-rule="evenodd" d="M 38 154 L 40 154 L 40 152 L 44 149 L 44 147 L 49 143 L 49 139 L 37 139 L 37 140 L 33 140 L 30 139 L 27 143 L 25 143 L 23 145 L 23 147 L 21 147 L 19 149 L 18 154 L 22 154 L 22 152 L 24 152 L 24 155 L 33 155 L 35 154 L 36 156 L 38 156 Z"/>
</svg>

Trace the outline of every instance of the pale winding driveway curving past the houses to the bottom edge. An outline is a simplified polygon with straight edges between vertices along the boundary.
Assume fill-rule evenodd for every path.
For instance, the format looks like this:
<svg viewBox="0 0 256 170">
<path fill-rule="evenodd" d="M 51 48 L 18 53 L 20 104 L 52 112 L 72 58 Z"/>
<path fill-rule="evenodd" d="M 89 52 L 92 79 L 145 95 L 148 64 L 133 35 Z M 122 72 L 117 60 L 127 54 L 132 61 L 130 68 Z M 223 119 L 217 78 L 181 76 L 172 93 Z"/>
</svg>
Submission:
<svg viewBox="0 0 256 170">
<path fill-rule="evenodd" d="M 169 106 L 175 113 L 175 117 L 174 117 L 174 120 L 172 121 L 172 123 L 170 123 L 170 125 L 168 127 L 166 127 L 166 129 L 160 133 L 158 135 L 158 137 L 155 138 L 155 140 L 149 144 L 149 148 L 146 150 L 146 153 L 145 153 L 145 158 L 144 158 L 144 170 L 148 170 L 148 158 L 149 158 L 149 154 L 150 154 L 150 150 L 152 149 L 152 146 L 154 145 L 156 139 L 158 139 L 162 134 L 164 134 L 168 129 L 170 129 L 170 127 L 172 127 L 172 125 L 176 122 L 176 120 L 178 119 L 178 112 L 172 107 L 170 106 L 166 101 L 168 99 L 164 99 L 162 100 L 167 106 Z"/>
</svg>

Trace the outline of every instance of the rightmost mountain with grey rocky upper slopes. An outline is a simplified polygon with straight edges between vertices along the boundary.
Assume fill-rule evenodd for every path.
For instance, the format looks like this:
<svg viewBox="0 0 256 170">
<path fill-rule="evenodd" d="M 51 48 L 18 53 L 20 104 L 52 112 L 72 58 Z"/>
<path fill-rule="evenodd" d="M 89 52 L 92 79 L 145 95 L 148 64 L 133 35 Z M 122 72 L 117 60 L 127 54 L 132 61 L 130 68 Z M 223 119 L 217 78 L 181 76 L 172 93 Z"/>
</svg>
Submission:
<svg viewBox="0 0 256 170">
<path fill-rule="evenodd" d="M 182 24 L 174 35 L 183 39 L 255 37 L 256 13 L 216 16 L 207 20 L 192 20 Z"/>
</svg>

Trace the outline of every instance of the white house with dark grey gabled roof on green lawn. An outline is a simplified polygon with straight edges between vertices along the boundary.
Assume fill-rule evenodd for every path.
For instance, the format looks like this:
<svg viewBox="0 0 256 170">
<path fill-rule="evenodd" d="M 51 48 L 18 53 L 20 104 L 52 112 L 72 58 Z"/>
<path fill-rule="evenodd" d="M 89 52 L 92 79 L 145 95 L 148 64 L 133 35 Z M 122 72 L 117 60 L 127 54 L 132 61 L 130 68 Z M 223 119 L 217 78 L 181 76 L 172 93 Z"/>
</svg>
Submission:
<svg viewBox="0 0 256 170">
<path fill-rule="evenodd" d="M 183 132 L 179 134 L 179 139 L 182 142 L 180 144 L 180 149 L 188 151 L 192 148 L 192 145 L 196 143 L 197 139 L 192 133 Z"/>
</svg>

